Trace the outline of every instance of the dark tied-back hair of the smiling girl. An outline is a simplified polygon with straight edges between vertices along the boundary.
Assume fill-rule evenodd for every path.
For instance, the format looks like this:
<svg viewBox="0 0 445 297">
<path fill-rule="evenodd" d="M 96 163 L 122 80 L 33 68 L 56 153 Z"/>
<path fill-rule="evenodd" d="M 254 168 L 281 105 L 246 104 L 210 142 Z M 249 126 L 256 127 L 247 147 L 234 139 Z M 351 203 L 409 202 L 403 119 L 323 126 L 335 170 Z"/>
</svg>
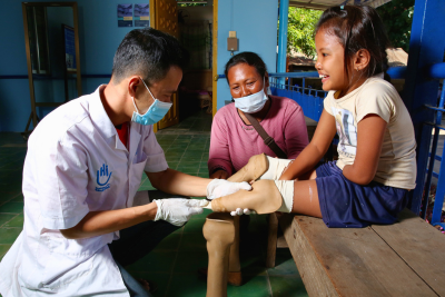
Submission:
<svg viewBox="0 0 445 297">
<path fill-rule="evenodd" d="M 373 7 L 343 6 L 325 10 L 318 20 L 315 33 L 326 30 L 336 36 L 345 49 L 345 69 L 349 77 L 350 60 L 360 49 L 369 51 L 370 60 L 366 76 L 372 77 L 388 69 L 386 48 L 389 39 L 383 21 Z"/>
</svg>

